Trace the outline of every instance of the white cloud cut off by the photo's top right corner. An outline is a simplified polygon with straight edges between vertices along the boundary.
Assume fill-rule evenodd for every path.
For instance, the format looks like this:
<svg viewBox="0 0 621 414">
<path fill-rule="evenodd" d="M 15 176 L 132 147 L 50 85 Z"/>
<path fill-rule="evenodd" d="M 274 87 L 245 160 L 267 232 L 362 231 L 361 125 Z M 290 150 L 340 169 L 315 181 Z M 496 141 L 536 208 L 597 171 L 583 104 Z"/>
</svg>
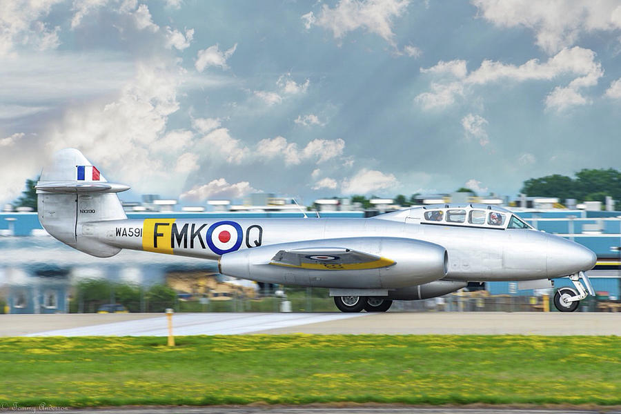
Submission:
<svg viewBox="0 0 621 414">
<path fill-rule="evenodd" d="M 616 0 L 497 1 L 472 0 L 482 17 L 500 27 L 524 26 L 549 54 L 573 46 L 583 33 L 618 31 L 621 5 Z"/>
</svg>

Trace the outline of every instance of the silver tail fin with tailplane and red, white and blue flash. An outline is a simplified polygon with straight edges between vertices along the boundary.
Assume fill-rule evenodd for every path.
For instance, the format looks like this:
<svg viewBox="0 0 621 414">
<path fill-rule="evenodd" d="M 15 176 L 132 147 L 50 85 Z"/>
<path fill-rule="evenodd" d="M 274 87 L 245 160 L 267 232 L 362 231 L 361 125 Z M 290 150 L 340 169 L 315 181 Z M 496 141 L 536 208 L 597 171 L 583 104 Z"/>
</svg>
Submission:
<svg viewBox="0 0 621 414">
<path fill-rule="evenodd" d="M 83 225 L 127 219 L 115 193 L 128 190 L 128 186 L 109 183 L 79 150 L 66 148 L 53 155 L 35 188 L 39 221 L 50 235 L 93 256 L 119 253 L 121 249 L 93 237 L 92 226 Z"/>
</svg>

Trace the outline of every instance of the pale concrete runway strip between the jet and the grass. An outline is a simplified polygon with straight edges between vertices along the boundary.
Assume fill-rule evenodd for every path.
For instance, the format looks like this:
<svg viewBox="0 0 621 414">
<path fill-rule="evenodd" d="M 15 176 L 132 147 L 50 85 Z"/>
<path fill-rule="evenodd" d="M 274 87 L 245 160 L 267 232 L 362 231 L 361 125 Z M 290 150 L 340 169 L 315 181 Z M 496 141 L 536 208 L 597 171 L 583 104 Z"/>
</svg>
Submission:
<svg viewBox="0 0 621 414">
<path fill-rule="evenodd" d="M 175 335 L 621 335 L 621 313 L 178 313 Z M 161 314 L 0 315 L 0 336 L 166 336 Z"/>
</svg>

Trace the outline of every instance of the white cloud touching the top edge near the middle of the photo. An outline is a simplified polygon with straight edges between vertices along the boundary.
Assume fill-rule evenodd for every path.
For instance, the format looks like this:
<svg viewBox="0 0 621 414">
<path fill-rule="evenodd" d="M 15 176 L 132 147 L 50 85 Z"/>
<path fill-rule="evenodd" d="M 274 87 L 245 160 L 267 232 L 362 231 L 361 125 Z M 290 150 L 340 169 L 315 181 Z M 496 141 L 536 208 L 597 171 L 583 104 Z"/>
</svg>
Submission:
<svg viewBox="0 0 621 414">
<path fill-rule="evenodd" d="M 306 29 L 316 25 L 332 30 L 339 41 L 348 32 L 362 28 L 395 46 L 393 19 L 406 12 L 408 3 L 408 0 L 340 0 L 334 8 L 324 4 L 317 17 L 313 12 L 304 14 L 302 20 Z"/>
</svg>

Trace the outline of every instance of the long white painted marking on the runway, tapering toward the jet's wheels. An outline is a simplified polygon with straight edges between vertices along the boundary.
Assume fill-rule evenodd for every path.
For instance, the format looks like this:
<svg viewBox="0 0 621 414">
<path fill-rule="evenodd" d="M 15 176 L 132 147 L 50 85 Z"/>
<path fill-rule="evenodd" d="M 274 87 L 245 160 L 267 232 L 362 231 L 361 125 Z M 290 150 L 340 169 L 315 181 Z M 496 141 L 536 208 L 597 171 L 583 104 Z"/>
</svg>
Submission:
<svg viewBox="0 0 621 414">
<path fill-rule="evenodd" d="M 177 313 L 172 317 L 175 335 L 239 335 L 362 317 L 366 313 Z M 57 329 L 26 336 L 166 336 L 166 317 Z"/>
</svg>

